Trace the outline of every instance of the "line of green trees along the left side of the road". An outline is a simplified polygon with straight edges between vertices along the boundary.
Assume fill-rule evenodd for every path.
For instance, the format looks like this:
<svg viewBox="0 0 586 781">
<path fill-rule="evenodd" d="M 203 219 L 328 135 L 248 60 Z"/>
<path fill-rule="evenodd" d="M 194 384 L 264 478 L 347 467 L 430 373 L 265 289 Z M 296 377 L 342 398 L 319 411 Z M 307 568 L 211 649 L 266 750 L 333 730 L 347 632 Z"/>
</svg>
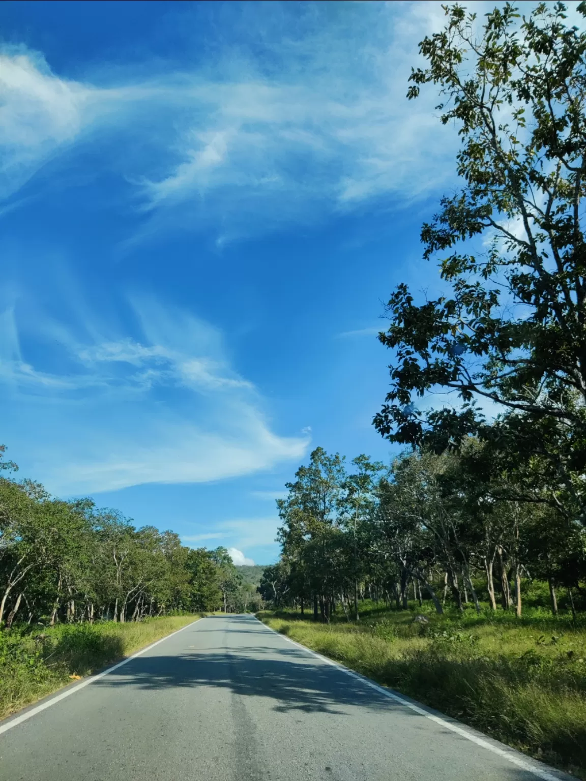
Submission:
<svg viewBox="0 0 586 781">
<path fill-rule="evenodd" d="M 0 446 L 0 626 L 137 621 L 258 606 L 223 547 L 193 550 L 177 533 L 137 529 L 91 499 L 62 501 L 16 481 Z"/>
</svg>

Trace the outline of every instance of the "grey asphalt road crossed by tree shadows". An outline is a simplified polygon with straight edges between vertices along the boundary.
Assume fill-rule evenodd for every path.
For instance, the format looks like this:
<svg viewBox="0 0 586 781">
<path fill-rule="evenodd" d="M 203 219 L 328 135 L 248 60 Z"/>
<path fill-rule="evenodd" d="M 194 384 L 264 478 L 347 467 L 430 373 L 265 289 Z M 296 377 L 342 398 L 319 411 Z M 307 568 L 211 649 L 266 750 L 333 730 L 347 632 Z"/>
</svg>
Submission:
<svg viewBox="0 0 586 781">
<path fill-rule="evenodd" d="M 464 729 L 469 740 L 431 713 L 385 697 L 252 615 L 212 616 L 0 734 L 0 779 L 569 778 L 494 741 L 478 745 L 478 733 Z"/>
</svg>

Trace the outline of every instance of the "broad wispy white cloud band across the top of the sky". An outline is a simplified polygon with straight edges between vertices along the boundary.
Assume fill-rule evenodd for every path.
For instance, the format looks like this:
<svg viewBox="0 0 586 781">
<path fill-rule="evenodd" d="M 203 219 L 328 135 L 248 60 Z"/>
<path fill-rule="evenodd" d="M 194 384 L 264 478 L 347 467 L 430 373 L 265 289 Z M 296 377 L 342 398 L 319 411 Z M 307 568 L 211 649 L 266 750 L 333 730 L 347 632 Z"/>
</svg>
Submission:
<svg viewBox="0 0 586 781">
<path fill-rule="evenodd" d="M 42 55 L 7 49 L 5 192 L 75 141 L 118 134 L 116 166 L 145 212 L 138 239 L 211 224 L 221 245 L 381 195 L 419 198 L 453 169 L 456 136 L 434 118 L 434 96 L 405 97 L 417 43 L 441 15 L 436 2 L 263 6 L 263 25 L 249 20 L 254 41 L 248 33 L 238 54 L 227 47 L 183 72 L 148 65 L 142 80 L 125 79 L 116 64 L 106 86 L 91 74 L 67 80 Z M 120 155 L 130 129 L 133 153 Z"/>
</svg>

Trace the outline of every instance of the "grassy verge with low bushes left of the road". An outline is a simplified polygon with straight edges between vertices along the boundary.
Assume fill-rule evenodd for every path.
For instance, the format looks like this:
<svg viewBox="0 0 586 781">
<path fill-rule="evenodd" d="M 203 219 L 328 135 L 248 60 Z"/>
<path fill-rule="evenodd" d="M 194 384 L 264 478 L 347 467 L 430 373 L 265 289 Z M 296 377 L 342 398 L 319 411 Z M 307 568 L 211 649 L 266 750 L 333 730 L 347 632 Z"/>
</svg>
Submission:
<svg viewBox="0 0 586 781">
<path fill-rule="evenodd" d="M 109 621 L 0 632 L 0 719 L 197 618 L 177 615 L 138 623 Z"/>
</svg>

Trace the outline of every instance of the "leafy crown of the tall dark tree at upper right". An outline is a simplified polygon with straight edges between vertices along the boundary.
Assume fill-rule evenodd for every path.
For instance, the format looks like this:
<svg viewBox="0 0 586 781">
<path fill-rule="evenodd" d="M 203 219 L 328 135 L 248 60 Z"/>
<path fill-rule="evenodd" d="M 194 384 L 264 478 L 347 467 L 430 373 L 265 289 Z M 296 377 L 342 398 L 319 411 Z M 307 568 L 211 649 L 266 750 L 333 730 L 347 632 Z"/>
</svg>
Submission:
<svg viewBox="0 0 586 781">
<path fill-rule="evenodd" d="M 400 284 L 391 295 L 380 335 L 394 351 L 391 391 L 375 426 L 437 451 L 477 434 L 523 473 L 518 487 L 584 522 L 586 33 L 561 2 L 521 19 L 506 3 L 481 25 L 462 6 L 445 12 L 408 95 L 436 85 L 441 122 L 462 140 L 463 185 L 421 231 L 451 292 L 417 303 Z M 438 388 L 463 406 L 418 411 L 416 397 Z M 504 411 L 495 425 L 478 399 Z"/>
</svg>

